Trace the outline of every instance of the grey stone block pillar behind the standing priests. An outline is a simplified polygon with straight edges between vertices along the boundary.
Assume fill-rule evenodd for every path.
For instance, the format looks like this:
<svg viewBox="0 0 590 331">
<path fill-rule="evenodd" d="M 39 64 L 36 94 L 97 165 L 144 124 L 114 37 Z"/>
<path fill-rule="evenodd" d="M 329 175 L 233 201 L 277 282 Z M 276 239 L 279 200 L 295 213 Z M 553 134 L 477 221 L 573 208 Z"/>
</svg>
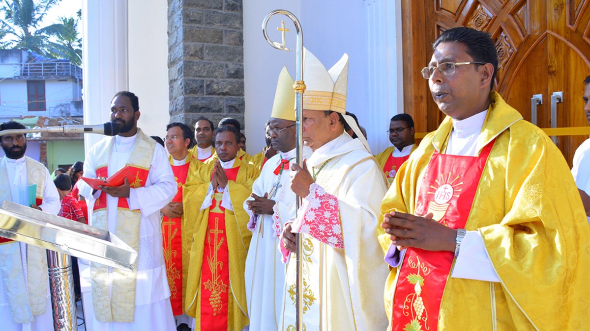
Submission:
<svg viewBox="0 0 590 331">
<path fill-rule="evenodd" d="M 241 0 L 168 0 L 170 121 L 244 124 Z"/>
</svg>

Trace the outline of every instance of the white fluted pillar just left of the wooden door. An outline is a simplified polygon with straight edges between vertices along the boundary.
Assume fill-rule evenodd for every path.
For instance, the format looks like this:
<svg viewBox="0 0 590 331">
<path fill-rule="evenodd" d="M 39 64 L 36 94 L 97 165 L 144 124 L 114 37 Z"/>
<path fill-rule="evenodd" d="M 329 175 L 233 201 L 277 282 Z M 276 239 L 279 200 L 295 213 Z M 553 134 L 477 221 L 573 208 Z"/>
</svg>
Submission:
<svg viewBox="0 0 590 331">
<path fill-rule="evenodd" d="M 373 154 L 391 143 L 389 119 L 404 112 L 401 1 L 367 0 L 365 6 L 368 123 Z"/>
</svg>

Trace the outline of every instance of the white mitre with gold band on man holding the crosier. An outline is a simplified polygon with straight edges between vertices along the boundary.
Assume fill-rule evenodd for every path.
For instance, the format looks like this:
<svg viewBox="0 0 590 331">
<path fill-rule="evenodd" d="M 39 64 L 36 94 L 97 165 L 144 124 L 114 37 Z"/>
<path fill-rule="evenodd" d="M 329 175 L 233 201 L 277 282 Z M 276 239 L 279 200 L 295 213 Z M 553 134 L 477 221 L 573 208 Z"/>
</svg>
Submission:
<svg viewBox="0 0 590 331">
<path fill-rule="evenodd" d="M 330 70 L 304 48 L 304 80 L 306 90 L 303 94 L 303 109 L 331 110 L 346 113 L 346 85 L 348 84 L 348 54 Z"/>
</svg>

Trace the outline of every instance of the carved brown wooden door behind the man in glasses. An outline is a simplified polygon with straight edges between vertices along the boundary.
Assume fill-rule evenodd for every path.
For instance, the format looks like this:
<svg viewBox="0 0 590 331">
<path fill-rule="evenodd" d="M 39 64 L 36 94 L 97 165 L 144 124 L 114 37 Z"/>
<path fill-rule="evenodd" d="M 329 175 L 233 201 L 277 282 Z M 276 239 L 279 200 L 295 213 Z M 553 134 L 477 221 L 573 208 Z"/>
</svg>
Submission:
<svg viewBox="0 0 590 331">
<path fill-rule="evenodd" d="M 536 124 L 552 125 L 551 96 L 557 127 L 588 125 L 582 93 L 590 75 L 589 0 L 431 0 L 402 2 L 404 34 L 405 109 L 413 113 L 418 131 L 438 127 L 442 114 L 430 97 L 428 82 L 420 69 L 432 54 L 430 45 L 449 28 L 467 26 L 490 32 L 496 42 L 499 66 L 496 90 L 504 100 L 533 120 L 533 95 L 542 95 L 536 105 Z M 575 148 L 587 136 L 555 137 L 571 163 Z"/>
</svg>

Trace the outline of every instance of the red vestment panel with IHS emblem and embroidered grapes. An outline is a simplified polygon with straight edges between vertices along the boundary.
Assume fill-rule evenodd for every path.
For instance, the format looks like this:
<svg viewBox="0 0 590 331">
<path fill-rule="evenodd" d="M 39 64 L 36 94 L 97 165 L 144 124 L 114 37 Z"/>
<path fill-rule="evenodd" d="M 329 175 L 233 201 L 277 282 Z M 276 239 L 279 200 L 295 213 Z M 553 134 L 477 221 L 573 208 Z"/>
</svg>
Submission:
<svg viewBox="0 0 590 331">
<path fill-rule="evenodd" d="M 478 157 L 434 151 L 415 214 L 432 213 L 434 220 L 451 229 L 464 228 L 494 141 Z M 392 330 L 437 330 L 442 293 L 453 260 L 451 251 L 407 249 L 395 286 Z"/>
</svg>

